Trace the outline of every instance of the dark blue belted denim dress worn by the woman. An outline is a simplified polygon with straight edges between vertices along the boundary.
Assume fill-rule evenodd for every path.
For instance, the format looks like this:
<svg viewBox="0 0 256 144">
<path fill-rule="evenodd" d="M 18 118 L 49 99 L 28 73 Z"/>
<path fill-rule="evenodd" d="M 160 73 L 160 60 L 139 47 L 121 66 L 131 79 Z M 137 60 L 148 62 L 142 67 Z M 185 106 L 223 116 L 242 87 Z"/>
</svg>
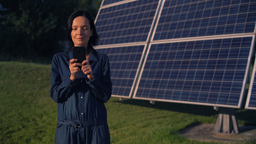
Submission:
<svg viewBox="0 0 256 144">
<path fill-rule="evenodd" d="M 106 54 L 90 53 L 94 80 L 80 71 L 70 80 L 72 51 L 57 53 L 51 65 L 50 96 L 58 103 L 55 144 L 110 144 L 107 110 L 112 94 L 110 64 Z"/>
</svg>

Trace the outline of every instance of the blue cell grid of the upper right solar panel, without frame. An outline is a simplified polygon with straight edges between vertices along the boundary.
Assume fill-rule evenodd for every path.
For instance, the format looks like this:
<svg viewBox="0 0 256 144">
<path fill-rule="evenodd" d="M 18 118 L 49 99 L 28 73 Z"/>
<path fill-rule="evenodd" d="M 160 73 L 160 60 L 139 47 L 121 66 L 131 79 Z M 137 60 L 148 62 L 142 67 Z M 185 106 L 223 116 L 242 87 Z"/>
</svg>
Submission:
<svg viewBox="0 0 256 144">
<path fill-rule="evenodd" d="M 253 32 L 256 2 L 242 2 L 215 0 L 212 7 L 212 1 L 166 0 L 154 40 Z"/>
</svg>

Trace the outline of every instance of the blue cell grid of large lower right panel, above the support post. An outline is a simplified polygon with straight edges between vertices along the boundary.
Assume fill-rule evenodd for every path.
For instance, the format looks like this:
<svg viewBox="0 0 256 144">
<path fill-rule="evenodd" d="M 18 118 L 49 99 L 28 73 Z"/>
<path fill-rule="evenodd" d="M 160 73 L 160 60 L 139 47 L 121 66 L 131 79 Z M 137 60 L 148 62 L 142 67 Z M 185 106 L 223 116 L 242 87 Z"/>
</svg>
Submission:
<svg viewBox="0 0 256 144">
<path fill-rule="evenodd" d="M 251 40 L 153 44 L 135 97 L 238 105 Z"/>
</svg>

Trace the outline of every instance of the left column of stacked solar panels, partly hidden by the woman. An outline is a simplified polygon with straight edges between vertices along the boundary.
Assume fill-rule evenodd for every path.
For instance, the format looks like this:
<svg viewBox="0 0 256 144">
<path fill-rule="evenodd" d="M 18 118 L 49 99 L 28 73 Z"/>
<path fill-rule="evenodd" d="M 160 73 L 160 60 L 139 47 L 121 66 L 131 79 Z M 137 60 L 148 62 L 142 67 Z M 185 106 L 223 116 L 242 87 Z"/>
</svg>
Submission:
<svg viewBox="0 0 256 144">
<path fill-rule="evenodd" d="M 158 0 L 103 0 L 95 24 L 98 51 L 109 56 L 112 96 L 131 97 Z"/>
</svg>

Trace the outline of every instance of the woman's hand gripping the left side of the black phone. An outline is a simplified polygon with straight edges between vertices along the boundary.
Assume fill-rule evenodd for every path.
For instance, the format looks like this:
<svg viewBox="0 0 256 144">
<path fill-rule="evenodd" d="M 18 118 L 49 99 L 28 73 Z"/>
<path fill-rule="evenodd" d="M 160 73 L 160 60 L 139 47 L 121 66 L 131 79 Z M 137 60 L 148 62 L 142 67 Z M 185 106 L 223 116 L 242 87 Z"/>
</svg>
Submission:
<svg viewBox="0 0 256 144">
<path fill-rule="evenodd" d="M 71 72 L 70 80 L 73 82 L 77 78 L 77 73 L 80 72 L 80 69 L 78 66 L 83 66 L 82 63 L 77 63 L 75 61 L 77 61 L 77 59 L 69 60 L 69 70 Z"/>
</svg>

